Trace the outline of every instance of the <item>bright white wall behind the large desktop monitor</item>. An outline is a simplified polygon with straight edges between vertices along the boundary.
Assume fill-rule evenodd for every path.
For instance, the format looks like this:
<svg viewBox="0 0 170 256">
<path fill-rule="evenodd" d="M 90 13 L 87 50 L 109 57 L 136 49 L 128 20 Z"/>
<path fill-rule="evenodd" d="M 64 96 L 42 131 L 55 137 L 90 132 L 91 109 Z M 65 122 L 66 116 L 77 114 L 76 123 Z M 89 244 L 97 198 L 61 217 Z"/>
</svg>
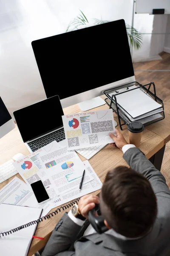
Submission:
<svg viewBox="0 0 170 256">
<path fill-rule="evenodd" d="M 133 0 L 0 0 L 0 96 L 11 115 L 46 98 L 31 41 L 65 32 L 79 9 L 89 21 L 123 18 L 132 23 Z M 152 31 L 153 15 L 136 16 L 134 26 L 140 32 Z M 144 36 L 133 58 L 150 56 L 150 43 L 150 35 Z M 163 48 L 154 47 L 155 52 Z"/>
</svg>

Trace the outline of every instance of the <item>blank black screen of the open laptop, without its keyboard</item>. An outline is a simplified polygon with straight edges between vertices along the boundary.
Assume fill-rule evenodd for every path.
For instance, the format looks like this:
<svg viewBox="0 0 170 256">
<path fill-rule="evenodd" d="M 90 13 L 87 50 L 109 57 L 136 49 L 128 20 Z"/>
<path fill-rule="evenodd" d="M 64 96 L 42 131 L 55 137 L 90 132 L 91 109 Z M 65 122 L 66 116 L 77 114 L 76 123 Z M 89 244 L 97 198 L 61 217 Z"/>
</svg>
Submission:
<svg viewBox="0 0 170 256">
<path fill-rule="evenodd" d="M 23 142 L 63 126 L 64 113 L 58 95 L 21 108 L 13 114 Z"/>
</svg>

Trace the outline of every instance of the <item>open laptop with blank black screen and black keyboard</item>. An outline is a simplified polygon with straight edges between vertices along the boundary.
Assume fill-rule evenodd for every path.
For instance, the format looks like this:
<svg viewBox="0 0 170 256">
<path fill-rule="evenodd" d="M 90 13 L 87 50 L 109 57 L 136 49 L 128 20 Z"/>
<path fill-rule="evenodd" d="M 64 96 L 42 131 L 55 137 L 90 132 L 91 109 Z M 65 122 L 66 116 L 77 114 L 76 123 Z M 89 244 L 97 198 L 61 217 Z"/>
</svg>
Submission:
<svg viewBox="0 0 170 256">
<path fill-rule="evenodd" d="M 18 109 L 13 114 L 23 142 L 30 153 L 54 140 L 65 140 L 62 123 L 64 113 L 58 95 Z"/>
</svg>

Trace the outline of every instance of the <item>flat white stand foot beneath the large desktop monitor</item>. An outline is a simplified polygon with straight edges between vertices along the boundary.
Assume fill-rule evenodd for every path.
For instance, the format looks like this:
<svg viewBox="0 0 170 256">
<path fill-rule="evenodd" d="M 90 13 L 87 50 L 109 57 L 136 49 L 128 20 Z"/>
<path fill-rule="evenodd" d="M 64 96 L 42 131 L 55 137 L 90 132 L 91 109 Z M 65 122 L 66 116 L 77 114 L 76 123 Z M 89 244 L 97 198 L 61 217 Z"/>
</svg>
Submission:
<svg viewBox="0 0 170 256">
<path fill-rule="evenodd" d="M 93 99 L 88 99 L 84 102 L 79 102 L 78 105 L 81 111 L 88 111 L 92 108 L 97 108 L 99 106 L 105 105 L 105 103 L 106 102 L 104 101 L 104 99 L 98 96 Z"/>
</svg>

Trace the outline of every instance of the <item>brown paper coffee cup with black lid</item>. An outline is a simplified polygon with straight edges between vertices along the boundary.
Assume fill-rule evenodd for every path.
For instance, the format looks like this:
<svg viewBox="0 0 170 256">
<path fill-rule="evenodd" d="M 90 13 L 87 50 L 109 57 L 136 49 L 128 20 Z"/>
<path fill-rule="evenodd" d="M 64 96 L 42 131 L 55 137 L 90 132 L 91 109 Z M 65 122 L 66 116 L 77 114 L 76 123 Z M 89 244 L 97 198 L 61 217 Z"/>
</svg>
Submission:
<svg viewBox="0 0 170 256">
<path fill-rule="evenodd" d="M 131 122 L 128 125 L 129 143 L 139 148 L 143 130 L 144 130 L 144 125 L 142 124 L 142 122 L 139 122 L 139 121 Z"/>
</svg>

